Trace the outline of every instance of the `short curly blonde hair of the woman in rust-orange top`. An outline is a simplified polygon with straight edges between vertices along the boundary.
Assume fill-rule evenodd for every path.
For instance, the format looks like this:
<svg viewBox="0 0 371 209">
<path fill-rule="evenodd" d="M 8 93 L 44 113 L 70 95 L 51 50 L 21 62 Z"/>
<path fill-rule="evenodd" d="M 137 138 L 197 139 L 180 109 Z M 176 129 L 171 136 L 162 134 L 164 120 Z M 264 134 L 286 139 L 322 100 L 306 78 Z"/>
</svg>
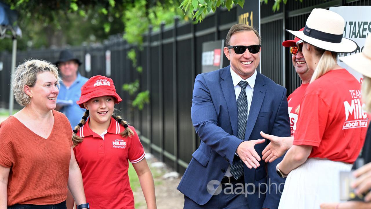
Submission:
<svg viewBox="0 0 371 209">
<path fill-rule="evenodd" d="M 14 98 L 19 105 L 27 106 L 30 104 L 31 98 L 24 92 L 24 86 L 35 86 L 37 74 L 43 72 L 50 72 L 55 75 L 59 87 L 60 77 L 58 75 L 58 68 L 54 64 L 45 60 L 26 60 L 18 65 L 12 75 L 12 87 Z"/>
</svg>

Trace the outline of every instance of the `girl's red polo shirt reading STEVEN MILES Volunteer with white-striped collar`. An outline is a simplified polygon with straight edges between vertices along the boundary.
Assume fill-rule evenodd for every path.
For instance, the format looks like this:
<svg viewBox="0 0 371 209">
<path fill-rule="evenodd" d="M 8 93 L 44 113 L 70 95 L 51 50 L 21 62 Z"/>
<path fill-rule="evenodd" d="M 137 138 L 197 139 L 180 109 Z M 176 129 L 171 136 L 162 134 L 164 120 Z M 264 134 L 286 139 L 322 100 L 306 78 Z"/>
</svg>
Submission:
<svg viewBox="0 0 371 209">
<path fill-rule="evenodd" d="M 124 126 L 111 118 L 104 139 L 89 128 L 89 119 L 78 131 L 83 141 L 73 150 L 79 164 L 86 201 L 92 209 L 134 209 L 134 196 L 129 184 L 129 162 L 138 163 L 145 152 L 134 127 L 131 138 L 123 138 Z"/>
</svg>

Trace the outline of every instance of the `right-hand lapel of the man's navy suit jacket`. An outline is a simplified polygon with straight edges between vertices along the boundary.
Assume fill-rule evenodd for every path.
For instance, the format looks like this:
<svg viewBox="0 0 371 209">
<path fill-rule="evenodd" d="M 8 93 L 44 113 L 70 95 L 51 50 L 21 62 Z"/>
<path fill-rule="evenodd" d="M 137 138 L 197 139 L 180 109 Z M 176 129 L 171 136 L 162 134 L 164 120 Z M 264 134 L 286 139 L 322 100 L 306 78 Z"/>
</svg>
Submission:
<svg viewBox="0 0 371 209">
<path fill-rule="evenodd" d="M 249 140 L 251 132 L 255 126 L 257 116 L 260 112 L 260 107 L 262 107 L 266 89 L 263 87 L 265 82 L 263 76 L 260 73 L 257 73 L 255 86 L 253 90 L 253 98 L 250 104 L 249 118 L 247 118 L 245 140 Z"/>
</svg>

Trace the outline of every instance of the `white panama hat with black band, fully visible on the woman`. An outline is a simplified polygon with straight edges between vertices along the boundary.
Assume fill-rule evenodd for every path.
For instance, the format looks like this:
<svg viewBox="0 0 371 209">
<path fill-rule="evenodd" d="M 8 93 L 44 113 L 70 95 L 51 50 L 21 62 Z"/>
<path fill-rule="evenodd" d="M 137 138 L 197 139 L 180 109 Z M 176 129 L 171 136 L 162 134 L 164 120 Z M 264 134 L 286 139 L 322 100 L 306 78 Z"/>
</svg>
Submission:
<svg viewBox="0 0 371 209">
<path fill-rule="evenodd" d="M 303 41 L 338 53 L 350 53 L 357 49 L 357 44 L 342 38 L 345 21 L 342 16 L 326 9 L 313 9 L 303 31 L 287 30 Z"/>
</svg>

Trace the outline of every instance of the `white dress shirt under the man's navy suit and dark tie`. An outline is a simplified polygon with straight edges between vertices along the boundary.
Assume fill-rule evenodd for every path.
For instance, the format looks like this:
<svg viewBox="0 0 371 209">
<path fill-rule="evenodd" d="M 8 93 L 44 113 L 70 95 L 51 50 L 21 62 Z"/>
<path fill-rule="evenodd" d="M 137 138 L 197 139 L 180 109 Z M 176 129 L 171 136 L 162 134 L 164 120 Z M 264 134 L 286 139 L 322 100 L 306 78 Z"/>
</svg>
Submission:
<svg viewBox="0 0 371 209">
<path fill-rule="evenodd" d="M 242 79 L 237 73 L 235 73 L 232 68 L 230 68 L 231 71 L 231 76 L 232 76 L 232 81 L 233 81 L 233 86 L 234 86 L 234 93 L 236 94 L 236 101 L 238 99 L 238 96 L 241 93 L 241 87 L 238 85 L 240 81 L 247 81 L 249 85 L 246 86 L 246 96 L 247 96 L 247 118 L 249 117 L 250 113 L 250 106 L 251 106 L 251 101 L 253 99 L 253 91 L 254 91 L 254 86 L 255 86 L 255 80 L 256 80 L 256 69 L 255 73 L 247 78 L 246 80 Z M 232 176 L 230 173 L 230 165 L 227 168 L 226 174 L 224 174 L 225 177 Z"/>
</svg>

